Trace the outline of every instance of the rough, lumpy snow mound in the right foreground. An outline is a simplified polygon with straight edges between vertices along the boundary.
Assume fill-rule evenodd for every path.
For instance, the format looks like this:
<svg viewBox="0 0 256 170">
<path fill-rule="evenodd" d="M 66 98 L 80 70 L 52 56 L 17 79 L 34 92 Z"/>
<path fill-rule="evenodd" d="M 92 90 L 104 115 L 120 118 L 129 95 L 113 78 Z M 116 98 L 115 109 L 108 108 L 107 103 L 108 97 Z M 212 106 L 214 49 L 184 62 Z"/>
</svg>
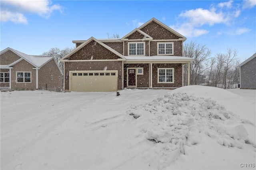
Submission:
<svg viewBox="0 0 256 170">
<path fill-rule="evenodd" d="M 204 137 L 224 147 L 239 149 L 248 140 L 243 125 L 227 123 L 230 119 L 239 123 L 240 119 L 210 98 L 173 93 L 147 104 L 132 105 L 127 113 L 143 124 L 140 133 L 146 139 L 166 144 L 165 152 L 179 150 L 186 154 L 184 145 L 200 144 Z"/>
</svg>

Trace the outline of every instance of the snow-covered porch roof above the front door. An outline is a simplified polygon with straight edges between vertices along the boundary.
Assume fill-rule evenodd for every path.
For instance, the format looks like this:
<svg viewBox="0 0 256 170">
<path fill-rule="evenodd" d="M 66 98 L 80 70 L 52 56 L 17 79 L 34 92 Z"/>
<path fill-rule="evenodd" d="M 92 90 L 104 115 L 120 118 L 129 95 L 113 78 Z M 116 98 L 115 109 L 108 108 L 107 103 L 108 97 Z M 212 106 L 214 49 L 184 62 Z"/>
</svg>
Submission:
<svg viewBox="0 0 256 170">
<path fill-rule="evenodd" d="M 164 56 L 164 55 L 155 55 L 155 56 L 124 56 L 127 61 L 129 60 L 166 60 L 166 61 L 194 61 L 194 59 L 189 57 L 180 57 L 180 56 Z"/>
</svg>

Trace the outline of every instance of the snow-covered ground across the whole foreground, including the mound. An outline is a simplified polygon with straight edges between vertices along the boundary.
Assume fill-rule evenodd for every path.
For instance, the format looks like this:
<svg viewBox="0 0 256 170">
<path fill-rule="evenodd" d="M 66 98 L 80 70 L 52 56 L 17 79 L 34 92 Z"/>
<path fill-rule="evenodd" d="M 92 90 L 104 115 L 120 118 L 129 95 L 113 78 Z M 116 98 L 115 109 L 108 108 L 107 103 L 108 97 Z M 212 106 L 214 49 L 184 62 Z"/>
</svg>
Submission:
<svg viewBox="0 0 256 170">
<path fill-rule="evenodd" d="M 256 90 L 1 92 L 4 169 L 255 169 Z"/>
</svg>

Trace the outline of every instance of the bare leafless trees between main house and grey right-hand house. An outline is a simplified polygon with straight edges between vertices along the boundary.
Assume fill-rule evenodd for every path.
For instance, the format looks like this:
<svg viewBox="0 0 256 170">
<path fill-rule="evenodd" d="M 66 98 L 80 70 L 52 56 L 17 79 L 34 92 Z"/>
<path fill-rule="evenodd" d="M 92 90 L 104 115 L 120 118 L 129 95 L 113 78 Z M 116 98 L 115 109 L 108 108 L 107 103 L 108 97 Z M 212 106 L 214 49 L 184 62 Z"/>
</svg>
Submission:
<svg viewBox="0 0 256 170">
<path fill-rule="evenodd" d="M 205 85 L 218 88 L 238 88 L 240 64 L 236 49 L 227 48 L 226 53 L 217 53 L 211 57 L 212 51 L 206 45 L 191 41 L 183 46 L 183 56 L 194 59 L 190 63 L 190 85 Z M 184 85 L 187 84 L 188 66 L 184 65 Z"/>
</svg>

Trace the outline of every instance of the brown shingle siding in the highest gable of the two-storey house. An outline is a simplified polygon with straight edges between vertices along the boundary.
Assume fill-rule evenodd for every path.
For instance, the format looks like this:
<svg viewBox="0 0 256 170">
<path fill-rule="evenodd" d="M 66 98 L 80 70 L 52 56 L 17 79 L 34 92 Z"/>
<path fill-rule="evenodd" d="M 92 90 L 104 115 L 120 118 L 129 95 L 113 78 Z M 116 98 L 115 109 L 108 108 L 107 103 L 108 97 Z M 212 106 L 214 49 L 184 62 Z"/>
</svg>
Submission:
<svg viewBox="0 0 256 170">
<path fill-rule="evenodd" d="M 153 39 L 179 39 L 174 33 L 170 32 L 169 30 L 165 29 L 155 21 L 148 23 L 148 25 L 144 26 L 140 29 L 144 33 L 148 34 Z"/>
</svg>

